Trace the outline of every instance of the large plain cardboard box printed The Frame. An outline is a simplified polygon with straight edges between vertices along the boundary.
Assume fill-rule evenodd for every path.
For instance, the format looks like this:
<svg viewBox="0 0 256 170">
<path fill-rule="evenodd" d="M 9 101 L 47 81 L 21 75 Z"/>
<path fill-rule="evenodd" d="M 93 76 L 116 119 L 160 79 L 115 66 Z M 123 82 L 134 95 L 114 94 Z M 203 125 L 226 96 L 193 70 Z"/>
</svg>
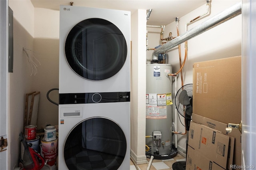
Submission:
<svg viewBox="0 0 256 170">
<path fill-rule="evenodd" d="M 194 63 L 193 113 L 225 124 L 241 121 L 241 56 Z"/>
</svg>

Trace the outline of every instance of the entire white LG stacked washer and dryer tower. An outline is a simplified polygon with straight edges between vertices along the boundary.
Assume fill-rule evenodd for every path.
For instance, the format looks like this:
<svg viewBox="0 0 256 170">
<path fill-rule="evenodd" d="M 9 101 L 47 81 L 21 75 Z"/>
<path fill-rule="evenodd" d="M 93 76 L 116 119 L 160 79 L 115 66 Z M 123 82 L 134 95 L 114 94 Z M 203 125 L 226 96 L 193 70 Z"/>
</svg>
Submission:
<svg viewBox="0 0 256 170">
<path fill-rule="evenodd" d="M 130 169 L 130 12 L 60 6 L 58 169 Z"/>
</svg>

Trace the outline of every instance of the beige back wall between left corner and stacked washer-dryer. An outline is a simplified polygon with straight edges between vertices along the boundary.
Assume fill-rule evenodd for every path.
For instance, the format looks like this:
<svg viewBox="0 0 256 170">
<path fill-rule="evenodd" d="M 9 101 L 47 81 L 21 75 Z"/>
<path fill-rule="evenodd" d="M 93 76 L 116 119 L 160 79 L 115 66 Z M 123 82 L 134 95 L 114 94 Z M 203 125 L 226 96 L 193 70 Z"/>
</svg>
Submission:
<svg viewBox="0 0 256 170">
<path fill-rule="evenodd" d="M 45 8 L 35 8 L 34 12 L 34 50 L 38 52 L 41 66 L 34 76 L 33 89 L 41 93 L 38 128 L 47 124 L 58 125 L 58 106 L 46 98 L 48 90 L 59 87 L 59 23 L 60 12 Z M 58 90 L 50 92 L 49 97 L 58 103 Z"/>
</svg>

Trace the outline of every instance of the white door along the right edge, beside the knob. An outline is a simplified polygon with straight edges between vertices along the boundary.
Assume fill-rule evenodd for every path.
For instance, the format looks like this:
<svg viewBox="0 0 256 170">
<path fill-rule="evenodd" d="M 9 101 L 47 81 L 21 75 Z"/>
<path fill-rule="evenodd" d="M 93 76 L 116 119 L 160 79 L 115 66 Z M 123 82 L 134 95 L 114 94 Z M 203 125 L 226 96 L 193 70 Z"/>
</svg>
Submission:
<svg viewBox="0 0 256 170">
<path fill-rule="evenodd" d="M 242 1 L 242 169 L 256 168 L 256 1 Z"/>
</svg>

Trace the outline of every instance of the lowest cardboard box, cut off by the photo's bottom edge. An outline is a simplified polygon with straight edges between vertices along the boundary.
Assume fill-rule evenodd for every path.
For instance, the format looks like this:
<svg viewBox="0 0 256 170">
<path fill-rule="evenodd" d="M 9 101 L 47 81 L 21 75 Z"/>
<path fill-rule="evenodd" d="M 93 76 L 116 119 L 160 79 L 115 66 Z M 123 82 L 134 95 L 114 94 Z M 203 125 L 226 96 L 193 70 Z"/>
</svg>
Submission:
<svg viewBox="0 0 256 170">
<path fill-rule="evenodd" d="M 188 146 L 186 170 L 224 170 L 224 168 Z"/>
</svg>

